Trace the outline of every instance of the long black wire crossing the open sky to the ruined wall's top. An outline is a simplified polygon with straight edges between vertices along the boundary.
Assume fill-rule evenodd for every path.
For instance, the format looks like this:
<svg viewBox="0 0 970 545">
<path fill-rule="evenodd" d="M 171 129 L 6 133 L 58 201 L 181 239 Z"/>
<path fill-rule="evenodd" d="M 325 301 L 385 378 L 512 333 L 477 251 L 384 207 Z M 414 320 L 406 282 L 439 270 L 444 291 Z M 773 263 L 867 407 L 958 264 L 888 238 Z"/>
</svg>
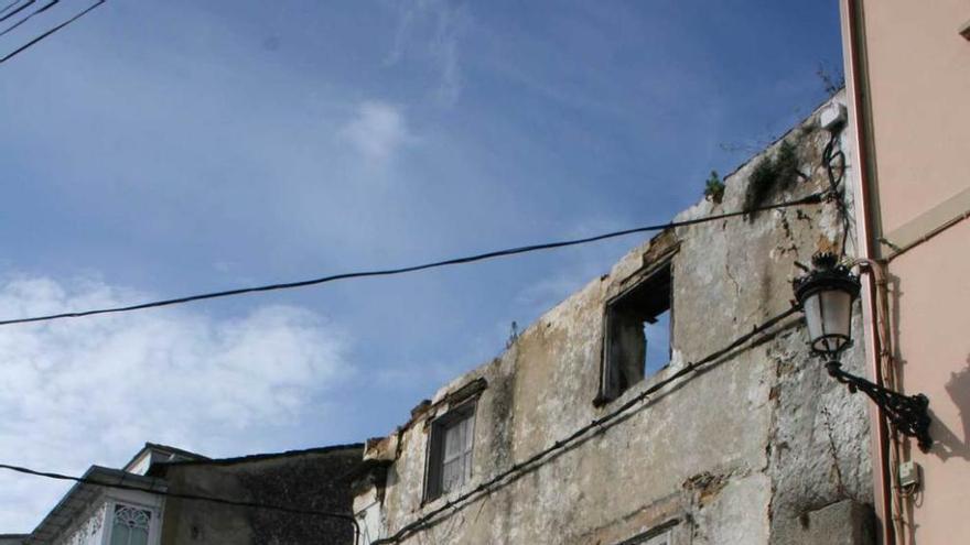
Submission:
<svg viewBox="0 0 970 545">
<path fill-rule="evenodd" d="M 219 292 L 209 292 L 209 293 L 202 293 L 202 294 L 196 294 L 196 295 L 186 295 L 183 297 L 152 301 L 152 302 L 148 302 L 148 303 L 140 303 L 140 304 L 128 305 L 128 306 L 116 306 L 116 307 L 107 307 L 107 308 L 97 308 L 97 309 L 91 309 L 91 310 L 77 310 L 77 312 L 71 312 L 71 313 L 48 314 L 48 315 L 44 315 L 44 316 L 33 316 L 33 317 L 28 317 L 28 318 L 6 319 L 6 320 L 0 320 L 0 326 L 9 326 L 9 325 L 13 325 L 13 324 L 29 324 L 29 323 L 34 323 L 34 321 L 50 321 L 50 320 L 64 319 L 64 318 L 80 318 L 80 317 L 85 317 L 85 316 L 95 316 L 95 315 L 99 315 L 99 314 L 128 313 L 128 312 L 133 312 L 133 310 L 143 310 L 147 308 L 158 308 L 158 307 L 163 307 L 163 306 L 182 305 L 182 304 L 192 303 L 195 301 L 214 299 L 214 298 L 218 298 L 218 297 L 229 297 L 229 296 L 244 295 L 244 294 L 249 294 L 249 293 L 271 292 L 271 291 L 277 291 L 277 290 L 292 290 L 292 288 L 297 288 L 297 287 L 306 287 L 306 286 L 312 286 L 312 285 L 326 284 L 328 282 L 335 282 L 338 280 L 360 279 L 360 277 L 369 277 L 369 276 L 392 276 L 392 275 L 397 275 L 397 274 L 405 274 L 405 273 L 410 273 L 410 272 L 416 272 L 416 271 L 424 271 L 428 269 L 438 269 L 438 268 L 442 268 L 442 266 L 474 263 L 476 261 L 485 261 L 485 260 L 492 260 L 492 259 L 496 259 L 496 258 L 505 258 L 505 257 L 517 255 L 517 254 L 521 254 L 521 253 L 552 250 L 556 248 L 565 248 L 565 247 L 571 247 L 571 246 L 588 244 L 591 242 L 597 242 L 601 240 L 624 237 L 627 235 L 634 235 L 634 233 L 638 233 L 638 232 L 658 231 L 658 230 L 662 230 L 662 229 L 671 229 L 675 227 L 693 226 L 693 225 L 698 225 L 698 224 L 704 224 L 708 221 L 715 221 L 715 220 L 720 220 L 720 219 L 745 216 L 748 214 L 763 211 L 763 210 L 773 210 L 773 209 L 788 208 L 788 207 L 794 207 L 794 206 L 816 205 L 816 204 L 820 204 L 820 203 L 824 201 L 829 196 L 830 196 L 829 192 L 820 192 L 820 193 L 813 193 L 811 195 L 808 195 L 807 197 L 802 197 L 799 199 L 787 200 L 787 201 L 777 203 L 774 205 L 759 206 L 759 207 L 755 207 L 755 208 L 751 208 L 751 209 L 746 209 L 746 210 L 719 214 L 719 215 L 714 215 L 714 216 L 705 216 L 703 218 L 694 218 L 694 219 L 688 219 L 688 220 L 683 220 L 683 221 L 670 221 L 667 224 L 636 227 L 633 229 L 624 229 L 622 231 L 612 231 L 612 232 L 596 235 L 593 237 L 585 237 L 585 238 L 581 238 L 581 239 L 561 240 L 561 241 L 557 241 L 557 242 L 545 242 L 545 243 L 539 243 L 539 244 L 522 246 L 522 247 L 518 247 L 518 248 L 509 248 L 509 249 L 505 249 L 505 250 L 495 250 L 495 251 L 485 252 L 485 253 L 477 253 L 474 255 L 466 255 L 466 257 L 462 257 L 462 258 L 451 258 L 451 259 L 445 259 L 442 261 L 422 263 L 419 265 L 409 265 L 409 266 L 400 266 L 400 268 L 396 268 L 396 269 L 382 269 L 382 270 L 358 271 L 358 272 L 349 272 L 349 273 L 342 273 L 342 274 L 333 274 L 330 276 L 321 276 L 317 279 L 301 280 L 301 281 L 297 281 L 297 282 L 287 282 L 287 283 L 280 283 L 280 284 L 267 284 L 267 285 L 252 286 L 252 287 L 239 287 L 236 290 L 225 290 L 225 291 L 219 291 Z"/>
</svg>

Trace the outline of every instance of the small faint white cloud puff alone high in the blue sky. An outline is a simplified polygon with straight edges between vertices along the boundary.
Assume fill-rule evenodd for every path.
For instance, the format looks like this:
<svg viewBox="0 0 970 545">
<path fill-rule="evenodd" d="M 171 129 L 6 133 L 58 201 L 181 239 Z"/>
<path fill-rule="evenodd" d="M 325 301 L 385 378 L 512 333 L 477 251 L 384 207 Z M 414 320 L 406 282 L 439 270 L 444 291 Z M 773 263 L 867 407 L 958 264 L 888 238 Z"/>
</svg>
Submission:
<svg viewBox="0 0 970 545">
<path fill-rule="evenodd" d="M 403 113 L 380 101 L 362 102 L 341 134 L 362 155 L 378 163 L 388 161 L 410 139 Z"/>
</svg>

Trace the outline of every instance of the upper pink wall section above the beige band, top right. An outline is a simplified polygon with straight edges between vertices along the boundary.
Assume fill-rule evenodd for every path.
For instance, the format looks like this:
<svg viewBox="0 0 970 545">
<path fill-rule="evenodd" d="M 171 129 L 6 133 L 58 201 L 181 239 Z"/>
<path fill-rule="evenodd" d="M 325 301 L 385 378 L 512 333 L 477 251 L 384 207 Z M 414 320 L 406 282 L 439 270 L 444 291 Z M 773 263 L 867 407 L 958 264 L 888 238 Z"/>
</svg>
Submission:
<svg viewBox="0 0 970 545">
<path fill-rule="evenodd" d="M 864 0 L 885 232 L 970 184 L 970 0 Z"/>
</svg>

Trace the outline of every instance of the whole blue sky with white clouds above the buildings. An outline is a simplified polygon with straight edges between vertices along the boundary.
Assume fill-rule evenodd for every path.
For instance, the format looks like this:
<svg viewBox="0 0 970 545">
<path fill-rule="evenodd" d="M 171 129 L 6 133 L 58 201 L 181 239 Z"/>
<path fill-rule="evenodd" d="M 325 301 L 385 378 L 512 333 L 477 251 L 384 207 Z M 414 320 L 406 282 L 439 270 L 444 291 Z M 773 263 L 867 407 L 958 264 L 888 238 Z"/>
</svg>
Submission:
<svg viewBox="0 0 970 545">
<path fill-rule="evenodd" d="M 820 63 L 834 1 L 109 1 L 0 65 L 0 318 L 665 221 Z M 0 459 L 385 435 L 640 240 L 2 328 Z M 65 489 L 0 475 L 0 532 Z"/>
</svg>

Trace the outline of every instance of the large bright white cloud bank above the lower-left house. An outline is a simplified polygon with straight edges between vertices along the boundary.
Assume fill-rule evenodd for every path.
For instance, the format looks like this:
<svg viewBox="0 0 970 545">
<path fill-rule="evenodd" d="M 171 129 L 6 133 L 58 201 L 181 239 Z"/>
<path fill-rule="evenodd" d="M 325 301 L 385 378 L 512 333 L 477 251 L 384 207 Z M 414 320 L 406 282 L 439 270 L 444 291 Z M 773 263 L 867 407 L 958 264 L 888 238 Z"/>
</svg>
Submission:
<svg viewBox="0 0 970 545">
<path fill-rule="evenodd" d="M 0 285 L 3 316 L 141 301 L 99 282 Z M 319 410 L 353 369 L 316 314 L 265 306 L 216 319 L 185 309 L 0 327 L 0 461 L 82 472 L 147 440 L 246 454 Z M 313 415 L 323 418 L 325 415 Z M 29 531 L 66 490 L 0 472 L 0 531 Z"/>
</svg>

